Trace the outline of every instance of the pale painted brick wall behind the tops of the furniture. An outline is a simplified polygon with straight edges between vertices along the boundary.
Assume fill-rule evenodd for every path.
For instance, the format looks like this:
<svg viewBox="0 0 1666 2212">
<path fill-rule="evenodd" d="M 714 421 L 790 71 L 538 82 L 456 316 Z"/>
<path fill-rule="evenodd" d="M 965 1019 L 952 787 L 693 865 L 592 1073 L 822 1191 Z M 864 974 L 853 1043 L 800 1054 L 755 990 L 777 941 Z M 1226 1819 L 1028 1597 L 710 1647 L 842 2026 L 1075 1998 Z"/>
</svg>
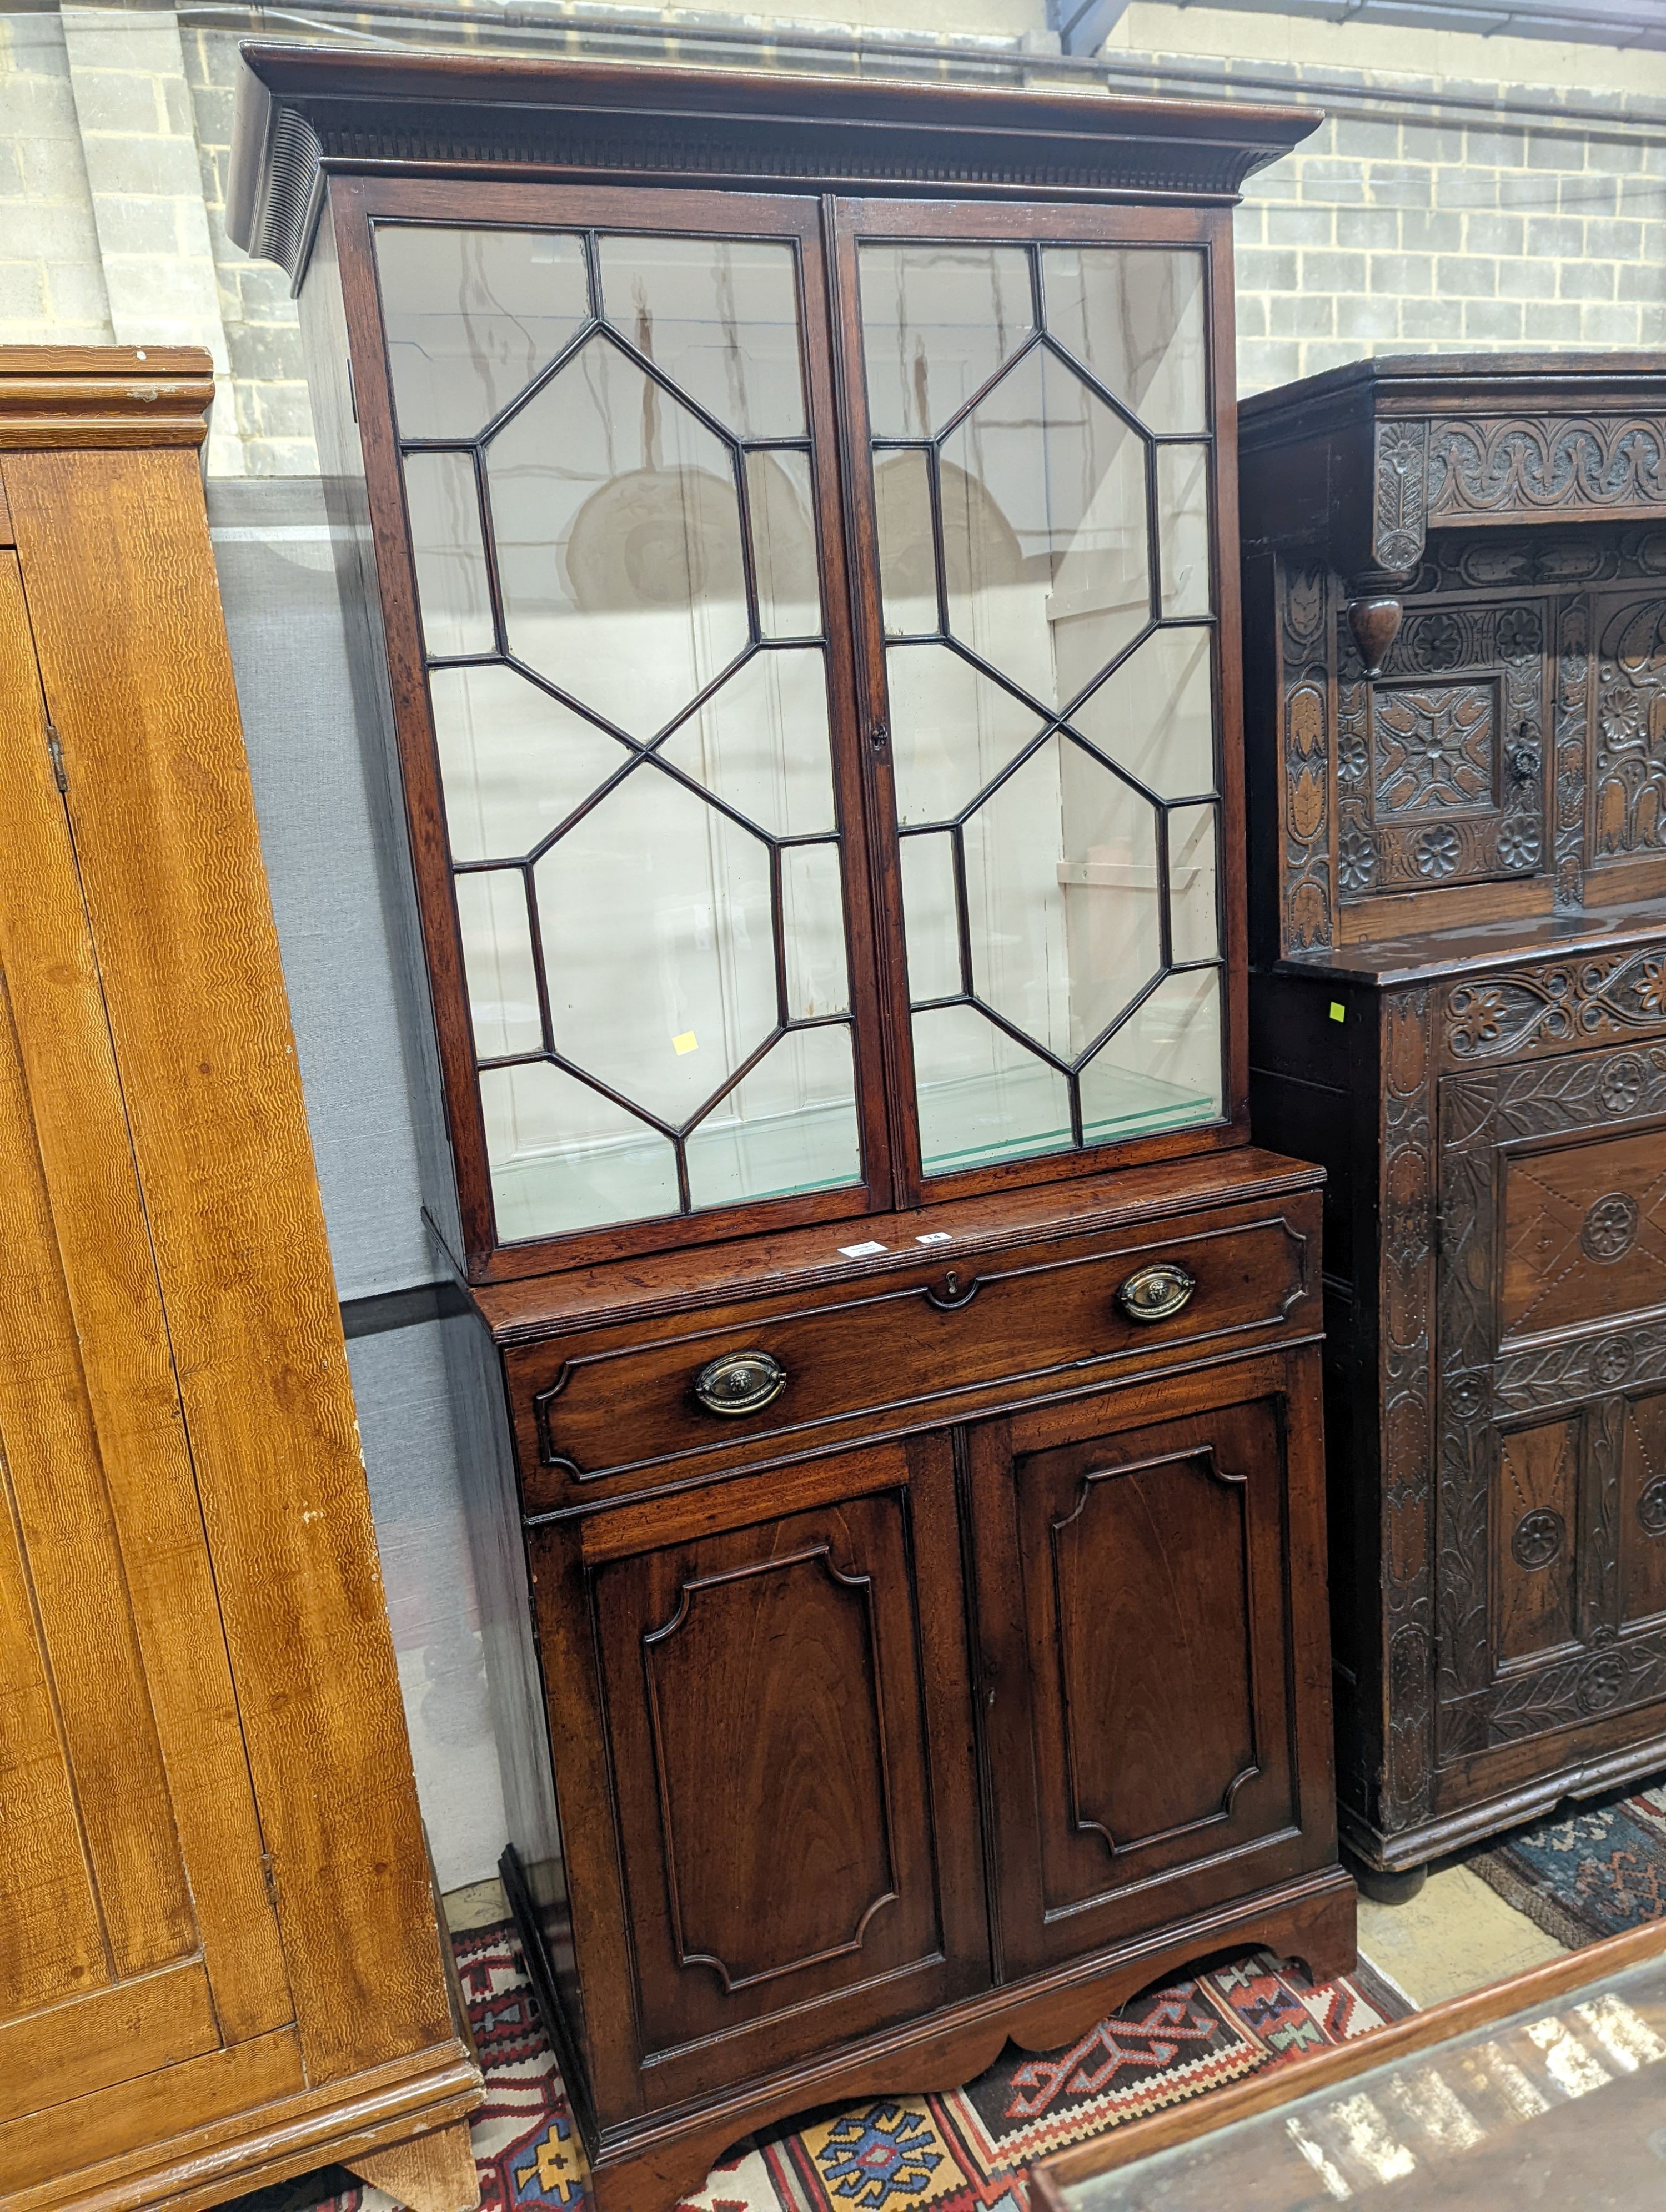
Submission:
<svg viewBox="0 0 1666 2212">
<path fill-rule="evenodd" d="M 777 20 L 779 51 L 768 18 L 549 15 L 569 51 L 721 60 L 677 33 L 730 24 L 754 62 L 1325 108 L 1239 212 L 1246 392 L 1383 349 L 1666 345 L 1666 55 L 1133 0 L 1084 71 L 1049 60 L 1044 0 L 847 7 L 845 33 L 821 24 L 803 49 Z M 971 13 L 945 29 L 945 7 Z M 305 476 L 288 279 L 223 228 L 239 35 L 162 9 L 0 13 L 0 338 L 192 336 L 223 387 L 210 469 Z M 1412 75 L 1412 53 L 1438 73 Z"/>
</svg>

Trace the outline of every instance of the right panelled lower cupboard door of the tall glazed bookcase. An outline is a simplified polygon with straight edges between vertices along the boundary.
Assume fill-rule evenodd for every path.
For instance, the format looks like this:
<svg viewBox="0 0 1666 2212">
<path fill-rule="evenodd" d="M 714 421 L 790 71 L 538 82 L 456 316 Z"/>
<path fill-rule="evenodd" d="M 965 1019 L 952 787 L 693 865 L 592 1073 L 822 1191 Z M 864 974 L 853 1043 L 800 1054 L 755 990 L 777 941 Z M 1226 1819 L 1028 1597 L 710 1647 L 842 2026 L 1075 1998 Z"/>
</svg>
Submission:
<svg viewBox="0 0 1666 2212">
<path fill-rule="evenodd" d="M 1297 1812 L 1279 1400 L 1230 1387 L 971 1431 L 1007 1975 L 1294 1871 L 1243 1865 Z"/>
</svg>

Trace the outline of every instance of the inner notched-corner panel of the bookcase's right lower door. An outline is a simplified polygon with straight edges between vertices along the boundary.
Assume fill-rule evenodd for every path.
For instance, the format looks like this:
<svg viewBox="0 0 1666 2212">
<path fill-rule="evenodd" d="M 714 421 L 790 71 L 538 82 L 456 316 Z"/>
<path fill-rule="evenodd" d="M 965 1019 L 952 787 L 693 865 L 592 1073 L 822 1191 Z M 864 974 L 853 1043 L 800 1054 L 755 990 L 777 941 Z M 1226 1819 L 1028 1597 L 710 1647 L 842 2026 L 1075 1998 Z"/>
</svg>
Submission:
<svg viewBox="0 0 1666 2212">
<path fill-rule="evenodd" d="M 1224 1820 L 1257 1770 L 1243 1475 L 1212 1451 L 1091 1471 L 1053 1520 L 1051 1564 L 1077 1834 L 1115 1856 Z M 1166 1619 L 1144 1595 L 1157 1588 Z M 1175 1723 L 1162 1772 L 1135 1772 L 1106 1728 L 1106 1714 L 1135 1710 Z"/>
</svg>

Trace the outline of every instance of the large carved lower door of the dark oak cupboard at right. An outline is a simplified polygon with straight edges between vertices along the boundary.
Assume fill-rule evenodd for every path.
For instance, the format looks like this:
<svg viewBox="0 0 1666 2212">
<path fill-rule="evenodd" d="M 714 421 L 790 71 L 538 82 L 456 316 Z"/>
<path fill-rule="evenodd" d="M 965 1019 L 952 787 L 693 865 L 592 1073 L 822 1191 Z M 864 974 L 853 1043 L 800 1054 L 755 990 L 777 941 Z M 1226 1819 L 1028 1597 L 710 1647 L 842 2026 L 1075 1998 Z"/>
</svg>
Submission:
<svg viewBox="0 0 1666 2212">
<path fill-rule="evenodd" d="M 1646 1223 L 1659 1212 L 1655 1183 L 1666 1186 L 1662 1135 L 1628 1130 L 1595 1144 L 1500 1150 L 1522 1139 L 1586 1137 L 1646 1115 L 1666 1115 L 1666 1046 L 1578 1053 L 1440 1082 L 1443 1756 L 1591 1719 L 1666 1690 L 1666 1646 L 1613 1648 L 1624 1542 L 1620 1400 L 1613 1391 L 1644 1374 L 1666 1371 L 1666 1323 L 1626 1318 L 1617 1329 L 1591 1327 L 1593 1318 L 1608 1318 L 1611 1301 L 1602 1285 L 1622 1285 L 1615 1290 L 1622 1307 L 1637 1298 L 1628 1263 L 1642 1237 L 1655 1234 Z M 1608 1206 L 1608 1199 L 1620 1203 Z M 1635 1201 L 1635 1217 L 1626 1199 Z M 1500 1221 L 1507 1248 L 1502 1270 L 1496 1250 Z M 1666 1243 L 1659 1281 L 1666 1283 Z M 1518 1352 L 1507 1345 L 1496 1358 L 1500 1329 L 1511 1321 L 1518 1329 L 1558 1325 L 1580 1334 Z M 1533 1520 L 1551 1511 L 1569 1531 L 1566 1482 L 1560 1473 L 1551 1480 L 1538 1462 L 1533 1480 L 1524 1473 L 1524 1453 L 1540 1453 L 1542 1460 L 1555 1427 L 1531 1431 L 1531 1447 L 1509 1436 L 1496 1440 L 1500 1513 L 1493 1515 L 1491 1544 L 1480 1500 L 1489 1489 L 1493 1451 L 1487 1422 L 1560 1407 L 1566 1409 L 1562 1438 L 1571 1442 L 1582 1398 L 1597 1402 L 1584 1416 L 1586 1469 L 1575 1553 L 1584 1579 L 1575 1593 L 1578 1619 L 1569 1624 L 1562 1597 L 1544 1606 L 1520 1595 L 1524 1575 L 1547 1571 L 1533 1559 L 1542 1551 L 1560 1557 L 1569 1544 L 1564 1533 L 1562 1544 L 1551 1548 L 1549 1524 Z M 1560 1451 L 1562 1444 L 1555 1444 L 1558 1469 Z M 1520 1478 L 1516 1502 L 1522 1511 L 1507 1528 L 1511 1471 Z M 1496 1608 L 1491 1644 L 1502 1659 L 1516 1661 L 1496 1681 L 1485 1663 L 1489 1566 Z M 1527 1628 L 1522 1606 L 1529 1606 Z M 1578 1659 L 1533 1661 L 1538 1644 L 1522 1639 L 1566 1641 L 1564 1630 L 1584 1644 L 1584 1652 Z"/>
</svg>

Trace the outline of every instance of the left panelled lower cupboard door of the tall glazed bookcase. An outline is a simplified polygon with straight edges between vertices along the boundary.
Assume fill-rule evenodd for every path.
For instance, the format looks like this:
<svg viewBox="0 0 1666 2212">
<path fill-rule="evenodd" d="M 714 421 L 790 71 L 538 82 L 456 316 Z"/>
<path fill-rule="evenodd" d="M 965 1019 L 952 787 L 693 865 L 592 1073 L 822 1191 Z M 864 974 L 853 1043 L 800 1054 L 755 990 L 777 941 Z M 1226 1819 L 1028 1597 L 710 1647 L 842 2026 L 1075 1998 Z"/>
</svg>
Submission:
<svg viewBox="0 0 1666 2212">
<path fill-rule="evenodd" d="M 951 1484 L 927 1438 L 681 1524 L 668 1500 L 584 1524 L 639 2059 L 668 2093 L 987 1984 Z"/>
</svg>

